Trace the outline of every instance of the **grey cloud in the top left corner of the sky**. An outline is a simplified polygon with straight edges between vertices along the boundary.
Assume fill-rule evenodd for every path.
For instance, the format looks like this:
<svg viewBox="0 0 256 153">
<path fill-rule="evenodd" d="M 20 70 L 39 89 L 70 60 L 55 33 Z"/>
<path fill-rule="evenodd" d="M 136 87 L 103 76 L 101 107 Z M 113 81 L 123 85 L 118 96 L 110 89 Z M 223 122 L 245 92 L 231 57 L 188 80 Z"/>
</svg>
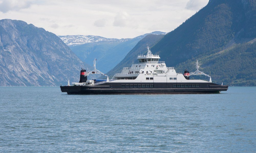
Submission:
<svg viewBox="0 0 256 153">
<path fill-rule="evenodd" d="M 29 8 L 31 2 L 19 0 L 2 0 L 0 1 L 0 11 L 6 13 L 8 11 L 18 11 L 20 9 Z"/>
</svg>

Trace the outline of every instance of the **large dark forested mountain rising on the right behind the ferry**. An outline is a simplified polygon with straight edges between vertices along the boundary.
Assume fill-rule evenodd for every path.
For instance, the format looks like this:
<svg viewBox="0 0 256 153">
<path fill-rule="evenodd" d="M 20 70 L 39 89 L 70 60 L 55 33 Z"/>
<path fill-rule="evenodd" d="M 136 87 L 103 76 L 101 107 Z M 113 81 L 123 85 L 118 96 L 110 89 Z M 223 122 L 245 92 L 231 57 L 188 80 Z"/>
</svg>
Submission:
<svg viewBox="0 0 256 153">
<path fill-rule="evenodd" d="M 167 66 L 175 66 L 177 72 L 195 71 L 198 59 L 199 70 L 210 74 L 213 82 L 255 86 L 255 6 L 256 0 L 211 0 L 167 33 L 151 51 L 159 52 L 161 61 Z M 132 56 L 123 61 L 131 63 Z M 113 75 L 113 71 L 109 73 Z"/>
</svg>

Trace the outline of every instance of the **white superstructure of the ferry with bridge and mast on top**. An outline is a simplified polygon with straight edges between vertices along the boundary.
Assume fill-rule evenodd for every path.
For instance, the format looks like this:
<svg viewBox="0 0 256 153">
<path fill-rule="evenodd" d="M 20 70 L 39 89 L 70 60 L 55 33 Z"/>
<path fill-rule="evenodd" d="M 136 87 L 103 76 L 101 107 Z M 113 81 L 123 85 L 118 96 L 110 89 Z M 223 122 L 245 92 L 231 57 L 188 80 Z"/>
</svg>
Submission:
<svg viewBox="0 0 256 153">
<path fill-rule="evenodd" d="M 182 73 L 176 73 L 174 67 L 166 67 L 159 61 L 159 55 L 153 55 L 147 46 L 147 55 L 139 55 L 138 63 L 124 67 L 121 73 L 114 75 L 114 82 L 207 82 L 204 80 L 187 80 Z M 211 80 L 209 81 L 211 82 Z"/>
</svg>

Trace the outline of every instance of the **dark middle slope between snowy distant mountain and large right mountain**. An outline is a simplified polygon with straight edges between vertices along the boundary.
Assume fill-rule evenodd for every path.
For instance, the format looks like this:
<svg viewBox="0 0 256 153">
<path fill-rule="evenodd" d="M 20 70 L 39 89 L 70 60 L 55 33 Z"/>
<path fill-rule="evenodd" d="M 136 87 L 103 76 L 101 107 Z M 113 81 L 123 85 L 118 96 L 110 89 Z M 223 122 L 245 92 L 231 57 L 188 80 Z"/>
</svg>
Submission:
<svg viewBox="0 0 256 153">
<path fill-rule="evenodd" d="M 164 35 L 147 35 L 145 36 L 141 41 L 139 41 L 134 48 L 125 56 L 125 58 L 118 63 L 112 70 L 110 70 L 107 75 L 109 75 L 109 78 L 112 78 L 115 73 L 120 73 L 123 67 L 129 67 L 132 65 L 132 63 L 136 63 L 137 56 L 139 54 L 145 54 L 147 53 L 147 45 L 154 46 L 159 40 L 161 40 L 164 37 Z M 155 54 L 155 53 L 154 53 Z"/>
</svg>

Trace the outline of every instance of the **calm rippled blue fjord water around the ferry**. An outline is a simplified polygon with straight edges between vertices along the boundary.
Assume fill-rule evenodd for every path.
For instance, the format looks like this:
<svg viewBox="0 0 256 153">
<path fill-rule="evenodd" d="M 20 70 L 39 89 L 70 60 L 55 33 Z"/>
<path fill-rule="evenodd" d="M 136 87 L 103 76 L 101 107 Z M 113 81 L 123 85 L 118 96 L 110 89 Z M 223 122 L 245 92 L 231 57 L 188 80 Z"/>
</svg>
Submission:
<svg viewBox="0 0 256 153">
<path fill-rule="evenodd" d="M 0 87 L 0 152 L 256 152 L 256 87 L 67 95 Z"/>
</svg>

